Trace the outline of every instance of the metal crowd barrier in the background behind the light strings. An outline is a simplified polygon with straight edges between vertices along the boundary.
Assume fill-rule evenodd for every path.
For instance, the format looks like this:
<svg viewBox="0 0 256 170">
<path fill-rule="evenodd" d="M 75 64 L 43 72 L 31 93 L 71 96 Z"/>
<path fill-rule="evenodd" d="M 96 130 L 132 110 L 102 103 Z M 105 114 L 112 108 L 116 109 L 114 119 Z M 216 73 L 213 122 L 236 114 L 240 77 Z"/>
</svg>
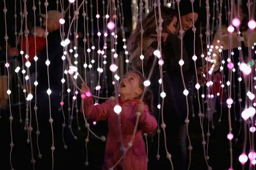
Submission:
<svg viewBox="0 0 256 170">
<path fill-rule="evenodd" d="M 83 48 L 82 48 L 83 50 Z M 78 68 L 78 72 L 81 75 L 81 77 L 85 80 L 86 77 L 86 82 L 88 83 L 89 87 L 92 87 L 92 91 L 94 91 L 95 86 L 98 85 L 98 83 L 101 86 L 101 90 L 104 89 L 108 89 L 110 87 L 113 86 L 112 82 L 113 82 L 113 73 L 109 70 L 109 66 L 111 64 L 111 51 L 108 50 L 107 51 L 107 58 L 106 60 L 106 64 L 101 65 L 101 63 L 103 62 L 103 58 L 102 55 L 98 55 L 97 54 L 97 50 L 94 50 L 94 56 L 91 54 L 91 60 L 92 58 L 94 59 L 94 63 L 91 63 L 91 61 L 89 62 L 88 60 L 88 56 L 87 58 L 87 64 L 92 64 L 92 68 L 89 69 L 88 67 L 85 69 L 84 68 L 84 63 L 85 63 L 85 57 L 83 54 L 79 55 L 76 58 L 77 61 L 77 68 Z M 116 64 L 118 65 L 118 68 L 121 70 L 119 70 L 120 74 L 120 78 L 122 78 L 123 74 L 124 74 L 124 61 L 125 61 L 125 56 L 122 55 L 124 54 L 124 52 L 120 53 L 121 55 L 119 56 L 119 58 L 116 59 Z M 71 56 L 71 60 L 72 63 L 74 64 L 75 62 L 75 57 Z M 103 72 L 99 77 L 99 72 L 97 71 L 98 68 L 98 60 L 100 63 L 100 67 L 102 67 Z M 24 80 L 25 80 L 25 76 L 26 74 L 22 74 L 21 73 L 21 63 L 19 63 L 16 59 L 14 58 L 8 58 L 8 63 L 9 63 L 9 76 L 8 76 L 8 72 L 7 69 L 5 67 L 5 63 L 6 61 L 0 61 L 0 70 L 1 70 L 1 77 L 0 77 L 0 107 L 3 108 L 4 106 L 10 106 L 9 104 L 11 104 L 11 106 L 17 106 L 20 104 L 26 104 L 26 95 L 27 92 L 24 92 Z M 18 73 L 15 72 L 15 69 L 17 67 L 20 67 L 20 71 Z M 68 70 L 68 65 L 66 65 L 66 70 Z M 9 78 L 8 78 L 9 77 Z M 74 83 L 73 81 L 70 81 L 71 77 L 68 75 L 68 77 L 66 78 L 66 83 L 64 84 L 64 96 L 67 96 L 67 88 L 71 89 L 71 95 L 73 95 L 73 89 L 74 89 Z M 8 80 L 9 80 L 9 88 L 11 90 L 11 94 L 10 94 L 10 100 L 8 98 L 8 94 L 7 94 L 7 90 L 8 90 Z M 78 86 L 80 86 L 80 84 L 82 83 L 82 81 L 77 78 L 77 80 L 75 81 L 76 84 Z"/>
</svg>

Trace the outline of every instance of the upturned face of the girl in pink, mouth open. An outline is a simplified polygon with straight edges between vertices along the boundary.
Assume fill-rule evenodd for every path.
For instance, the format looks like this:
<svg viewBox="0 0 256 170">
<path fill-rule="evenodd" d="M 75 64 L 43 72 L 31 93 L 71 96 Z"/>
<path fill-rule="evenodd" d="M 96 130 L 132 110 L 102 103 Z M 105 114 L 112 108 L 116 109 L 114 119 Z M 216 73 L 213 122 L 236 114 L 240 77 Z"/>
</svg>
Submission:
<svg viewBox="0 0 256 170">
<path fill-rule="evenodd" d="M 120 82 L 118 92 L 126 99 L 134 99 L 142 93 L 140 76 L 136 73 L 127 73 Z"/>
</svg>

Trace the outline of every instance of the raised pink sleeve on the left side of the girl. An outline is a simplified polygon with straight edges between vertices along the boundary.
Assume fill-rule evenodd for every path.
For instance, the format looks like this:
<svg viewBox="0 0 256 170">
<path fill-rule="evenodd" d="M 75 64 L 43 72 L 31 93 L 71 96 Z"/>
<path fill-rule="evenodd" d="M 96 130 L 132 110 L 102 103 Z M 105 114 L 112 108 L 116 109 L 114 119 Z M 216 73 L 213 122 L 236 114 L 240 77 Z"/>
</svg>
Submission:
<svg viewBox="0 0 256 170">
<path fill-rule="evenodd" d="M 102 104 L 94 105 L 93 97 L 82 100 L 81 112 L 87 119 L 93 119 L 94 121 L 108 120 L 110 100 L 105 101 Z"/>
</svg>

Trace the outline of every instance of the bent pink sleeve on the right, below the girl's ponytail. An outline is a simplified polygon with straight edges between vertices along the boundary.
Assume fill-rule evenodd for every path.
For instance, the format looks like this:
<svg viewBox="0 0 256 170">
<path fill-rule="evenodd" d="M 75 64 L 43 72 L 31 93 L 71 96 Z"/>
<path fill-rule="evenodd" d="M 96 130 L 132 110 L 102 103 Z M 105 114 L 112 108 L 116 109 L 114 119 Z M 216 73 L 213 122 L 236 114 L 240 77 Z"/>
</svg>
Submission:
<svg viewBox="0 0 256 170">
<path fill-rule="evenodd" d="M 145 133 L 152 133 L 157 128 L 156 118 L 150 115 L 147 105 L 145 105 L 144 113 L 140 116 L 139 128 Z"/>
</svg>

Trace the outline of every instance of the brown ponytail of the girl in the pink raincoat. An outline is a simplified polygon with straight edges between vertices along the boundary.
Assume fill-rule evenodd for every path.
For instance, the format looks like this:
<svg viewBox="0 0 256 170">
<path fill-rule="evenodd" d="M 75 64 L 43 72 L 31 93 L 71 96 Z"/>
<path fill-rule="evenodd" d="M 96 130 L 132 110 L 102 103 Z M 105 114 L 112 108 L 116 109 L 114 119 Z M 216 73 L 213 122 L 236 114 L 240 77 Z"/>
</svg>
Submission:
<svg viewBox="0 0 256 170">
<path fill-rule="evenodd" d="M 128 73 L 135 73 L 140 77 L 139 86 L 143 90 L 143 92 L 145 91 L 144 96 L 143 96 L 143 101 L 148 105 L 149 113 L 154 115 L 155 109 L 153 107 L 153 93 L 147 87 L 145 88 L 145 85 L 143 84 L 144 81 L 146 81 L 147 79 L 139 71 L 129 71 Z M 141 97 L 141 96 L 139 96 L 139 97 Z"/>
</svg>

